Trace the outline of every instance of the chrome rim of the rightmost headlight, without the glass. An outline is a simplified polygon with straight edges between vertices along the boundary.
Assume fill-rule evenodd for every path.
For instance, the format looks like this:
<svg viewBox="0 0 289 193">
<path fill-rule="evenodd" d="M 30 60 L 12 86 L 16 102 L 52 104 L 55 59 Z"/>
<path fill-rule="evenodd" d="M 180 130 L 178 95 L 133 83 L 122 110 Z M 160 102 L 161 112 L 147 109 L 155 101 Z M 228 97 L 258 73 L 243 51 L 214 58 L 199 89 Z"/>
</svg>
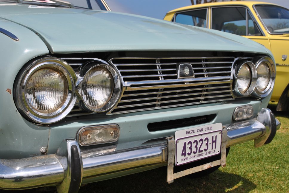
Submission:
<svg viewBox="0 0 289 193">
<path fill-rule="evenodd" d="M 270 79 L 267 87 L 263 91 L 259 91 L 257 88 L 253 92 L 253 96 L 256 97 L 266 97 L 268 96 L 271 91 L 273 90 L 273 86 L 275 83 L 275 77 L 276 77 L 276 69 L 274 66 L 274 62 L 270 57 L 262 57 L 256 62 L 256 69 L 261 65 L 262 63 L 267 64 L 269 70 L 270 70 Z"/>
</svg>

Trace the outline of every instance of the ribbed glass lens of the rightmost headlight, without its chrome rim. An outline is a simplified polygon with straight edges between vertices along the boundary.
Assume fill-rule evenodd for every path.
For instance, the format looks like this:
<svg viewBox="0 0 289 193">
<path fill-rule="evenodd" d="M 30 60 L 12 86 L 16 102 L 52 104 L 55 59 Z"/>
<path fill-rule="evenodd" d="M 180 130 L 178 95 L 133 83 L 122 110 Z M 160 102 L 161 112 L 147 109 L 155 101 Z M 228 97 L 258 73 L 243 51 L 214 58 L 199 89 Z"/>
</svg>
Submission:
<svg viewBox="0 0 289 193">
<path fill-rule="evenodd" d="M 256 89 L 259 92 L 264 91 L 270 81 L 270 69 L 267 65 L 267 63 L 262 62 L 259 64 L 259 66 L 257 67 L 257 85 L 256 85 Z"/>
</svg>

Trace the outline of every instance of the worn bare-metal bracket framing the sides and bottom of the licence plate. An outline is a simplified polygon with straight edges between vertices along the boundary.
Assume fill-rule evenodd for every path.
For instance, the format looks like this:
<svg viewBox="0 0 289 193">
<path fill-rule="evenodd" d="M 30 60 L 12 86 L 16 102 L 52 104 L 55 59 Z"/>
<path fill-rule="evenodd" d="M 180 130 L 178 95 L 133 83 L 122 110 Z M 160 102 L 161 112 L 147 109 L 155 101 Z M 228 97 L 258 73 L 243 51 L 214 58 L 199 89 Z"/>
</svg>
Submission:
<svg viewBox="0 0 289 193">
<path fill-rule="evenodd" d="M 222 136 L 221 136 L 221 159 L 216 160 L 201 166 L 196 166 L 181 172 L 173 173 L 173 167 L 175 164 L 175 155 L 176 155 L 176 141 L 173 136 L 167 138 L 168 143 L 168 162 L 167 162 L 167 182 L 173 183 L 173 180 L 180 178 L 185 175 L 189 175 L 195 172 L 199 172 L 205 169 L 208 169 L 213 166 L 221 165 L 222 167 L 226 166 L 226 141 L 227 141 L 227 128 L 222 127 Z"/>
</svg>

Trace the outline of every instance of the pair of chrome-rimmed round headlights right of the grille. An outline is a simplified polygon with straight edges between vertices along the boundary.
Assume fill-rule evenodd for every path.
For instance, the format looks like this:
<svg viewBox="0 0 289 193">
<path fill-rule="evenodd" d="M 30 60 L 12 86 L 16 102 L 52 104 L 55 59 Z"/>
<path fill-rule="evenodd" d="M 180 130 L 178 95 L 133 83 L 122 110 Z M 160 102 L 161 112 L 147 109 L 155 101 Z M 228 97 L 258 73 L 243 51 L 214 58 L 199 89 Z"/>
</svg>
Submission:
<svg viewBox="0 0 289 193">
<path fill-rule="evenodd" d="M 274 62 L 270 57 L 262 57 L 255 64 L 243 61 L 236 65 L 234 76 L 237 95 L 268 96 L 276 76 Z"/>
</svg>

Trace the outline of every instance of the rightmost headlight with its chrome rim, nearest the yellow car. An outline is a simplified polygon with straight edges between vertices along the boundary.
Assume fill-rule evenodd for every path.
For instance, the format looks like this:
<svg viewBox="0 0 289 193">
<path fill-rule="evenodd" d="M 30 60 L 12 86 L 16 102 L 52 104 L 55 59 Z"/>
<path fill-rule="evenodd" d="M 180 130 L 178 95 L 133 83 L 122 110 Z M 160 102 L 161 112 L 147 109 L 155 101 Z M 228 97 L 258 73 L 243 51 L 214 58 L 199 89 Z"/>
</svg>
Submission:
<svg viewBox="0 0 289 193">
<path fill-rule="evenodd" d="M 275 66 L 269 57 L 262 57 L 256 63 L 257 67 L 257 85 L 254 95 L 257 97 L 265 97 L 270 94 L 275 82 Z"/>
</svg>

